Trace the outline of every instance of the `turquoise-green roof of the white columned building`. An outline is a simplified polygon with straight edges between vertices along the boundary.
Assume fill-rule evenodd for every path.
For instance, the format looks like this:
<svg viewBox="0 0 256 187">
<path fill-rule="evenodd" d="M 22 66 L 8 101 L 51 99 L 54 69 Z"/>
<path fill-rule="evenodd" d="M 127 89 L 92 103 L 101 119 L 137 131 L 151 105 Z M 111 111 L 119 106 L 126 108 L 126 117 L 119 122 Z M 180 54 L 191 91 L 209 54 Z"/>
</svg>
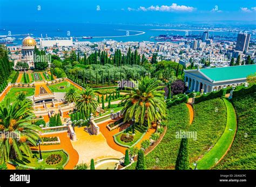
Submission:
<svg viewBox="0 0 256 187">
<path fill-rule="evenodd" d="M 246 78 L 256 72 L 256 64 L 245 66 L 230 66 L 224 68 L 206 68 L 200 69 L 201 73 L 214 81 L 232 80 L 237 78 Z"/>
</svg>

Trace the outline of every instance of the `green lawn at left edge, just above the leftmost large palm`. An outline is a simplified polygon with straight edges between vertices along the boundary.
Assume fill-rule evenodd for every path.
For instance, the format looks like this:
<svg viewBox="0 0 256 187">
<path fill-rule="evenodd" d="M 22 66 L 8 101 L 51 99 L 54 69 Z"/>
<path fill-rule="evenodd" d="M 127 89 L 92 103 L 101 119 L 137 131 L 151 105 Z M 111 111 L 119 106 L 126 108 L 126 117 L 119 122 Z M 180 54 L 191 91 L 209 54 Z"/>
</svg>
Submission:
<svg viewBox="0 0 256 187">
<path fill-rule="evenodd" d="M 13 103 L 16 97 L 18 96 L 19 92 L 21 91 L 25 93 L 26 97 L 32 96 L 35 94 L 35 88 L 11 88 L 1 103 L 6 103 L 6 100 L 8 98 L 10 98 L 10 102 Z"/>
</svg>

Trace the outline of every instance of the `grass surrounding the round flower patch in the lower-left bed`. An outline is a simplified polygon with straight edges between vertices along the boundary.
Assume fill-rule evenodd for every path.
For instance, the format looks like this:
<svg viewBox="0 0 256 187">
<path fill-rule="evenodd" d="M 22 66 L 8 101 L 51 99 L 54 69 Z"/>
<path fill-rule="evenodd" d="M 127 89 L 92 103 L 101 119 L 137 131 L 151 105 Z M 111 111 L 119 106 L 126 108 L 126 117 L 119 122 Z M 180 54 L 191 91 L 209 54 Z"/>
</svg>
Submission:
<svg viewBox="0 0 256 187">
<path fill-rule="evenodd" d="M 60 160 L 59 163 L 57 164 L 47 164 L 46 158 L 50 156 L 51 154 L 59 154 L 62 156 L 62 159 Z M 42 156 L 43 156 L 43 161 L 38 162 L 39 152 L 33 152 L 33 155 L 36 155 L 36 157 L 33 157 L 29 159 L 28 157 L 25 157 L 23 161 L 15 161 L 19 166 L 25 166 L 25 167 L 32 167 L 32 168 L 37 168 L 39 166 L 44 167 L 44 168 L 51 168 L 51 169 L 56 169 L 57 167 L 63 167 L 65 166 L 66 163 L 68 163 L 69 156 L 63 151 L 63 150 L 53 150 L 53 151 L 42 151 Z"/>
</svg>

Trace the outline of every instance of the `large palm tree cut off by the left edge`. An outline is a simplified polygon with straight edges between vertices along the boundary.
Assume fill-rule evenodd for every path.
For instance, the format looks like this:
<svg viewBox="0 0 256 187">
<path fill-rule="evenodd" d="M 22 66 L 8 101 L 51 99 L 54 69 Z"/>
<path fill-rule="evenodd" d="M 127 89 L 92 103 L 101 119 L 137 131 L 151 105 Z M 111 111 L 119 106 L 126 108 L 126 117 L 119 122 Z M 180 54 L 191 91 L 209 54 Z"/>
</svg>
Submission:
<svg viewBox="0 0 256 187">
<path fill-rule="evenodd" d="M 10 159 L 22 160 L 23 156 L 32 156 L 29 145 L 36 146 L 40 127 L 31 124 L 33 114 L 29 103 L 25 101 L 10 104 L 10 99 L 0 106 L 0 163 Z"/>
</svg>

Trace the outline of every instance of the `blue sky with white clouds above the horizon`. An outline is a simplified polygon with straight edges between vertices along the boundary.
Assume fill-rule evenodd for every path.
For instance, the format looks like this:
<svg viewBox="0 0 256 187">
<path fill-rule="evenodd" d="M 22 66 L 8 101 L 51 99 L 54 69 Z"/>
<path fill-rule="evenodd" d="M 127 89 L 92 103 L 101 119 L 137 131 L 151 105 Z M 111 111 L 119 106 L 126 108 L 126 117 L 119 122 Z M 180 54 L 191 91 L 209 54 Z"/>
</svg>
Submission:
<svg viewBox="0 0 256 187">
<path fill-rule="evenodd" d="M 0 21 L 191 23 L 256 20 L 254 0 L 0 0 Z"/>
</svg>

